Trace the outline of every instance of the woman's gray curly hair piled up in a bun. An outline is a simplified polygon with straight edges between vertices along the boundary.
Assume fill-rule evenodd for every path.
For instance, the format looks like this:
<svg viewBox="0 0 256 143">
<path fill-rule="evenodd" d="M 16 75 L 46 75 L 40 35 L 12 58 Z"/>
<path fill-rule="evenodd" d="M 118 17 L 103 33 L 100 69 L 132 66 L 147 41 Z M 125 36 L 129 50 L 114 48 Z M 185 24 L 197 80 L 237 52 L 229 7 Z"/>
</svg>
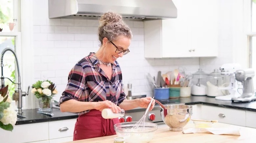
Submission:
<svg viewBox="0 0 256 143">
<path fill-rule="evenodd" d="M 101 45 L 105 37 L 109 41 L 116 40 L 118 36 L 132 38 L 132 31 L 124 23 L 122 16 L 113 11 L 108 11 L 99 18 L 98 34 Z"/>
</svg>

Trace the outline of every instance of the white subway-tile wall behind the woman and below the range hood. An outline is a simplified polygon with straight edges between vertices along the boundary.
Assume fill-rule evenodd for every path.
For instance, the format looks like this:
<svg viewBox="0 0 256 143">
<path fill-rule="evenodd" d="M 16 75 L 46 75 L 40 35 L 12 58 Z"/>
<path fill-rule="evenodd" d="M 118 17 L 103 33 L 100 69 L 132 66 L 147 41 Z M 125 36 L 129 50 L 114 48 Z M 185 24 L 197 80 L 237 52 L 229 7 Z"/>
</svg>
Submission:
<svg viewBox="0 0 256 143">
<path fill-rule="evenodd" d="M 195 72 L 199 67 L 213 71 L 224 63 L 233 62 L 233 39 L 231 37 L 234 22 L 230 15 L 232 0 L 220 1 L 219 12 L 219 56 L 216 58 L 144 58 L 143 21 L 126 21 L 134 34 L 129 49 L 131 52 L 118 59 L 123 72 L 123 83 L 133 84 L 133 95 L 147 94 L 152 96 L 152 86 L 145 74 L 157 76 L 158 71 L 172 71 L 185 67 L 187 72 Z M 49 19 L 48 0 L 33 0 L 33 48 L 34 82 L 49 79 L 57 86 L 58 100 L 67 84 L 67 76 L 75 63 L 96 52 L 99 48 L 97 37 L 97 20 Z M 206 45 L 207 48 L 207 45 Z M 224 53 L 226 54 L 224 54 Z"/>
</svg>

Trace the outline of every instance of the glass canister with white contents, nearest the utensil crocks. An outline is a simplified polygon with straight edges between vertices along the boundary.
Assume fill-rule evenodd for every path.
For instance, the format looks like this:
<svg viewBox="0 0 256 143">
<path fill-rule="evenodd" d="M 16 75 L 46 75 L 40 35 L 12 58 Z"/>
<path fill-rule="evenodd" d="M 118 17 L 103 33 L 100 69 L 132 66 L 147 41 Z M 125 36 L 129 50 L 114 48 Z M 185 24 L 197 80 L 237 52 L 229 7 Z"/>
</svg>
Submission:
<svg viewBox="0 0 256 143">
<path fill-rule="evenodd" d="M 204 96 L 206 95 L 206 78 L 208 74 L 201 68 L 197 72 L 193 73 L 191 95 Z"/>
</svg>

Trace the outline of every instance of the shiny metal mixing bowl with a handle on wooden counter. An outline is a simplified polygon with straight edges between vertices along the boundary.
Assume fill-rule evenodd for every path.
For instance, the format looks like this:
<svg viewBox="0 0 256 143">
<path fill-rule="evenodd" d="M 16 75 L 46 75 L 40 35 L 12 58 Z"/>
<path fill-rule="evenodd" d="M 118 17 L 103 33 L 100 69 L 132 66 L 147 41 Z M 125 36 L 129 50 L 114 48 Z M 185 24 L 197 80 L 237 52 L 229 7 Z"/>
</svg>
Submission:
<svg viewBox="0 0 256 143">
<path fill-rule="evenodd" d="M 160 113 L 164 123 L 170 127 L 170 131 L 182 131 L 183 127 L 191 119 L 192 106 L 183 104 L 164 105 L 160 107 Z"/>
</svg>

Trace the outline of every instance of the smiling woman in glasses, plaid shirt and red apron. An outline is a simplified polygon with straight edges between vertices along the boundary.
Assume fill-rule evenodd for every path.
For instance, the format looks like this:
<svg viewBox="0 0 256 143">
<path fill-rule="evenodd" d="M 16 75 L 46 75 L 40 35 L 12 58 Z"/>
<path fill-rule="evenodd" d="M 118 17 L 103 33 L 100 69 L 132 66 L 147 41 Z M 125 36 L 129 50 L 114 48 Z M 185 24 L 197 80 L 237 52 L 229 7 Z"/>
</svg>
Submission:
<svg viewBox="0 0 256 143">
<path fill-rule="evenodd" d="M 75 64 L 59 101 L 61 112 L 79 115 L 73 140 L 115 135 L 114 124 L 119 120 L 102 118 L 104 108 L 111 108 L 114 113 L 121 109 L 146 108 L 152 99 L 125 99 L 122 72 L 116 60 L 130 52 L 128 47 L 132 33 L 122 17 L 115 12 L 101 15 L 98 35 L 101 43 L 99 50 Z M 155 101 L 150 110 L 154 105 Z"/>
</svg>

